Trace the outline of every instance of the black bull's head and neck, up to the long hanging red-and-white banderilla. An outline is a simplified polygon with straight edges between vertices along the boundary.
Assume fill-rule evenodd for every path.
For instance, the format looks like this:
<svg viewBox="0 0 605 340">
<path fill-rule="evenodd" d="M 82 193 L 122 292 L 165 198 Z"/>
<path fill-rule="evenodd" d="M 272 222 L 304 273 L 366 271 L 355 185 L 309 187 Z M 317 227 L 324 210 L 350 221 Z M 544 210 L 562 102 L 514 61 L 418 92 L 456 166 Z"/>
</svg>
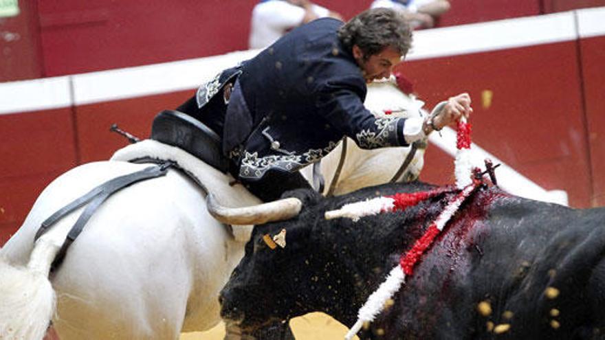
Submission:
<svg viewBox="0 0 605 340">
<path fill-rule="evenodd" d="M 221 291 L 222 317 L 247 332 L 311 311 L 354 324 L 357 310 L 399 262 L 399 249 L 418 238 L 421 227 L 428 225 L 425 220 L 436 217 L 441 205 L 421 204 L 409 215 L 369 216 L 356 223 L 325 220 L 324 214 L 351 200 L 401 192 L 403 186 L 366 188 L 315 205 L 305 202 L 296 218 L 254 227 L 244 258 Z M 426 185 L 405 188 L 426 190 Z M 415 218 L 419 212 L 422 218 Z M 287 246 L 272 249 L 265 236 L 282 229 Z"/>
</svg>

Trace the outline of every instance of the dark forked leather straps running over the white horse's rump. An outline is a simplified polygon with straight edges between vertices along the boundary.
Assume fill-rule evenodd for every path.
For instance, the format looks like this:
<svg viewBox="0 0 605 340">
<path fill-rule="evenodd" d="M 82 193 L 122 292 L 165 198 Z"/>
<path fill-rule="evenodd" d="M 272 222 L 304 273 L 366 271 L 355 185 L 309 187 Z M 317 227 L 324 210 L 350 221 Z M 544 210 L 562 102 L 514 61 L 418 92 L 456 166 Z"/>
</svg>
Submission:
<svg viewBox="0 0 605 340">
<path fill-rule="evenodd" d="M 131 174 L 126 174 L 124 176 L 116 177 L 115 179 L 110 179 L 109 181 L 98 185 L 93 190 L 89 191 L 84 196 L 75 199 L 71 203 L 65 205 L 61 209 L 58 209 L 57 212 L 52 214 L 49 218 L 47 218 L 40 226 L 40 229 L 36 232 L 35 240 L 38 240 L 45 232 L 47 232 L 56 221 L 63 218 L 65 215 L 73 212 L 74 210 L 82 207 L 86 203 L 89 203 L 87 207 L 84 209 L 84 212 L 78 217 L 76 223 L 69 230 L 67 237 L 65 238 L 65 242 L 63 242 L 63 246 L 59 250 L 56 258 L 52 262 L 51 271 L 54 271 L 61 262 L 63 262 L 63 258 L 65 258 L 65 253 L 67 252 L 67 248 L 69 245 L 72 245 L 72 242 L 76 240 L 78 235 L 84 229 L 84 226 L 91 218 L 91 216 L 96 212 L 98 207 L 112 194 L 117 192 L 122 188 L 126 188 L 127 186 L 137 183 L 139 181 L 144 181 L 146 179 L 153 179 L 155 177 L 161 177 L 168 172 L 168 168 L 172 166 L 172 162 L 162 163 L 159 166 L 150 166 L 148 168 L 144 168 L 143 170 L 133 172 Z"/>
</svg>

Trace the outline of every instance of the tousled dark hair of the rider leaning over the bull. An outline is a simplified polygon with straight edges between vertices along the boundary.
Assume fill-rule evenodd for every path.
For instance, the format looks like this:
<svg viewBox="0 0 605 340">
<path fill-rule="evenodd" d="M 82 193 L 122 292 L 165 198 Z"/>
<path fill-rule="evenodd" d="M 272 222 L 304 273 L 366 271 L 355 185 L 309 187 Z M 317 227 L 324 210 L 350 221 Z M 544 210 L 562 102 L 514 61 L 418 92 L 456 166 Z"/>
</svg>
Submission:
<svg viewBox="0 0 605 340">
<path fill-rule="evenodd" d="M 412 45 L 412 29 L 404 16 L 389 8 L 361 12 L 338 30 L 338 38 L 347 49 L 358 45 L 364 58 L 393 47 L 401 56 Z"/>
</svg>

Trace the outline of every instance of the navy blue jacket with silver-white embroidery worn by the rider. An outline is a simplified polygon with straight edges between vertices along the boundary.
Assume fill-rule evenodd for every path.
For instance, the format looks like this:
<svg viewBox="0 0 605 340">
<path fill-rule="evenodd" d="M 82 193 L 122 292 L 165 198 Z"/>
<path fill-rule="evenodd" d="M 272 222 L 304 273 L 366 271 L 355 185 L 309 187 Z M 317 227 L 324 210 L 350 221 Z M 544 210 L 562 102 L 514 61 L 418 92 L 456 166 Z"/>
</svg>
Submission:
<svg viewBox="0 0 605 340">
<path fill-rule="evenodd" d="M 239 162 L 239 177 L 298 170 L 327 155 L 344 135 L 361 148 L 408 145 L 404 119 L 377 119 L 365 109 L 366 83 L 338 39 L 341 25 L 312 21 L 239 67 L 222 131 L 223 153 Z M 201 87 L 199 106 L 231 74 L 234 69 Z"/>
</svg>

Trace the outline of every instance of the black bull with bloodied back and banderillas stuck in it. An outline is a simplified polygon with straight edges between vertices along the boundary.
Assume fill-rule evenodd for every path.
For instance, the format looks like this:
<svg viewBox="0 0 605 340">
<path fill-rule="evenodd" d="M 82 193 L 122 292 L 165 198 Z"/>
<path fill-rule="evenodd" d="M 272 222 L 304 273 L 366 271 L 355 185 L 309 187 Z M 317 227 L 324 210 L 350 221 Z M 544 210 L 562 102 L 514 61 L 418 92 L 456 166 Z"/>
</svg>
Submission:
<svg viewBox="0 0 605 340">
<path fill-rule="evenodd" d="M 254 228 L 245 257 L 221 293 L 221 314 L 249 329 L 311 311 L 352 326 L 360 306 L 447 198 L 357 223 L 325 220 L 324 212 L 376 195 L 428 188 L 388 184 L 331 199 L 294 192 L 306 196 L 305 209 L 294 220 Z M 271 250 L 262 236 L 281 229 L 287 230 L 287 245 Z M 604 251 L 605 208 L 570 209 L 481 188 L 421 257 L 393 303 L 358 335 L 605 338 Z"/>
</svg>

